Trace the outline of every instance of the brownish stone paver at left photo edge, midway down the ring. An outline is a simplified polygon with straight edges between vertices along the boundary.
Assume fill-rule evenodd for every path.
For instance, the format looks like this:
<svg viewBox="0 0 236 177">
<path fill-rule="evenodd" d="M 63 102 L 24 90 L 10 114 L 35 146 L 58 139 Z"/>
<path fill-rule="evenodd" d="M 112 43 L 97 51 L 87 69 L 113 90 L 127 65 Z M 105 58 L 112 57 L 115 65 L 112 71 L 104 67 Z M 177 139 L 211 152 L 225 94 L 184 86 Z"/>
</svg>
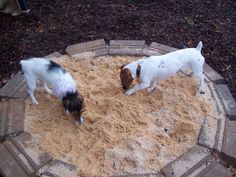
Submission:
<svg viewBox="0 0 236 177">
<path fill-rule="evenodd" d="M 0 102 L 0 141 L 24 131 L 25 101 L 9 99 Z"/>
</svg>

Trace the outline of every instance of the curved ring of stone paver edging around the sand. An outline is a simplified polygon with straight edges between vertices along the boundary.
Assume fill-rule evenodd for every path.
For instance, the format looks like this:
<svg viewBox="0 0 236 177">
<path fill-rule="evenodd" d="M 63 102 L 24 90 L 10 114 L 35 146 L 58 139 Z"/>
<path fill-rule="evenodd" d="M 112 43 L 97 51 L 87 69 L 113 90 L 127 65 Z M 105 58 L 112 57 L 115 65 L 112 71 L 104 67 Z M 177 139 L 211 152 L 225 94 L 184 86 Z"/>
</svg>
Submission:
<svg viewBox="0 0 236 177">
<path fill-rule="evenodd" d="M 107 44 L 103 39 L 70 45 L 68 55 L 75 59 L 104 55 L 162 55 L 177 50 L 156 42 L 146 45 L 143 40 L 111 40 Z M 61 56 L 56 52 L 45 58 L 56 61 Z M 207 64 L 204 65 L 206 83 L 217 104 L 220 117 L 206 117 L 202 124 L 198 145 L 167 164 L 158 173 L 133 174 L 125 176 L 232 176 L 219 162 L 214 160 L 212 151 L 216 151 L 224 160 L 236 164 L 236 103 L 223 78 Z M 74 165 L 52 159 L 47 153 L 40 152 L 31 157 L 24 145 L 31 139 L 30 133 L 23 132 L 24 99 L 27 87 L 20 73 L 16 74 L 0 89 L 0 174 L 3 176 L 76 176 Z M 14 107 L 14 109 L 11 109 Z M 211 127 L 211 128 L 209 128 Z M 214 128 L 212 128 L 214 127 Z M 31 139 L 31 141 L 33 141 Z M 12 169 L 15 169 L 12 171 Z M 55 170 L 56 169 L 56 170 Z M 59 170 L 58 170 L 59 169 Z"/>
</svg>

